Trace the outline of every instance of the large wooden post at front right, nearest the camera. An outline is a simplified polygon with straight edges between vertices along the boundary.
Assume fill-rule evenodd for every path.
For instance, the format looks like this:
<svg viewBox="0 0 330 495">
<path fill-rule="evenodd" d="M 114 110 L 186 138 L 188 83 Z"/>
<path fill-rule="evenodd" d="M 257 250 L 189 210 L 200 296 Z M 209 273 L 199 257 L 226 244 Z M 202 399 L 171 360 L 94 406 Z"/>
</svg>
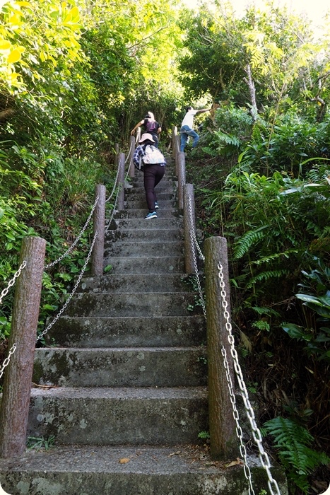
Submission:
<svg viewBox="0 0 330 495">
<path fill-rule="evenodd" d="M 210 421 L 210 448 L 214 459 L 229 459 L 238 455 L 235 420 L 228 390 L 228 380 L 223 365 L 221 348 L 227 352 L 230 376 L 233 379 L 233 362 L 225 327 L 225 316 L 221 301 L 218 277 L 218 262 L 223 265 L 228 313 L 230 314 L 230 290 L 228 278 L 227 241 L 223 237 L 205 240 L 205 296 L 206 330 L 208 348 L 208 416 Z"/>
</svg>

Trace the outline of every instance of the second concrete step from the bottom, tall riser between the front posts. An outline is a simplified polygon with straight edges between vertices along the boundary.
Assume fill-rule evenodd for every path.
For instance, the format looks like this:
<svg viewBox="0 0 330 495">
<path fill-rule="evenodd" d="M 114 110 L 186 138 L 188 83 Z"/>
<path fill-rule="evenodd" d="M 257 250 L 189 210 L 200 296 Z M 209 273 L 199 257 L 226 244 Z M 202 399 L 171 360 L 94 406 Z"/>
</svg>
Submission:
<svg viewBox="0 0 330 495">
<path fill-rule="evenodd" d="M 195 443 L 207 411 L 204 387 L 33 388 L 28 436 L 66 445 Z"/>
</svg>

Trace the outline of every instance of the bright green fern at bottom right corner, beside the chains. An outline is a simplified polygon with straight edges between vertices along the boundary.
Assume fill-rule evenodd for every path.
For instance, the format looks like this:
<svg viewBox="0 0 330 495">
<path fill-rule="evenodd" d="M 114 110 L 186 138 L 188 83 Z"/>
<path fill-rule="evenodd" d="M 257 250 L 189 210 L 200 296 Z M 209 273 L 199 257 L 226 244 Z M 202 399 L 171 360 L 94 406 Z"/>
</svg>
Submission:
<svg viewBox="0 0 330 495">
<path fill-rule="evenodd" d="M 330 458 L 310 448 L 314 438 L 292 419 L 276 417 L 266 421 L 264 428 L 273 437 L 278 458 L 288 472 L 288 480 L 307 494 L 310 488 L 309 474 L 320 465 L 328 464 Z"/>
</svg>

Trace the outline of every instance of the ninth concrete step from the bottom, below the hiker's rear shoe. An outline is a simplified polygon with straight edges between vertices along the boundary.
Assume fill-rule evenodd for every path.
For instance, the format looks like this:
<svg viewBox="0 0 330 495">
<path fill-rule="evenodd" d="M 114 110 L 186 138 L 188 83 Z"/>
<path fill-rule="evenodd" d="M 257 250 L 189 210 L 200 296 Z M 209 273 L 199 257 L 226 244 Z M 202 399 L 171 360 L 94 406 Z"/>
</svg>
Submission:
<svg viewBox="0 0 330 495">
<path fill-rule="evenodd" d="M 143 222 L 151 222 L 157 221 L 159 219 L 152 220 L 143 220 Z M 143 227 L 143 224 L 142 224 Z M 122 228 L 121 230 L 109 230 L 105 233 L 105 248 L 109 248 L 112 243 L 116 240 L 129 240 L 136 242 L 154 242 L 154 241 L 167 241 L 167 240 L 183 240 L 184 239 L 184 231 L 182 228 L 174 227 L 174 228 L 141 228 L 140 230 L 137 228 Z"/>
</svg>

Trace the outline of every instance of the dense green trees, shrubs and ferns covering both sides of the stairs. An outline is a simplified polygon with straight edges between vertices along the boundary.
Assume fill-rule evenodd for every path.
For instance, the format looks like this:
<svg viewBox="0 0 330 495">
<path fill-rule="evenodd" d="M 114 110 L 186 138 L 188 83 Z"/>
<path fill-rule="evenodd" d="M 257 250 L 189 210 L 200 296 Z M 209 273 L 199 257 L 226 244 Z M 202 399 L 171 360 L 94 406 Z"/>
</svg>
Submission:
<svg viewBox="0 0 330 495">
<path fill-rule="evenodd" d="M 199 148 L 187 150 L 199 228 L 228 239 L 237 346 L 291 493 L 320 493 L 330 443 L 330 26 L 316 39 L 285 9 L 237 18 L 218 1 L 194 14 L 178 3 L 2 6 L 0 289 L 23 236 L 47 240 L 47 262 L 73 243 L 95 183 L 112 188 L 114 144 L 124 150 L 146 110 L 163 124 L 165 149 L 184 103 L 213 103 L 196 117 Z M 45 272 L 40 330 L 89 244 L 88 226 Z M 0 363 L 11 303 L 9 293 Z"/>
</svg>

